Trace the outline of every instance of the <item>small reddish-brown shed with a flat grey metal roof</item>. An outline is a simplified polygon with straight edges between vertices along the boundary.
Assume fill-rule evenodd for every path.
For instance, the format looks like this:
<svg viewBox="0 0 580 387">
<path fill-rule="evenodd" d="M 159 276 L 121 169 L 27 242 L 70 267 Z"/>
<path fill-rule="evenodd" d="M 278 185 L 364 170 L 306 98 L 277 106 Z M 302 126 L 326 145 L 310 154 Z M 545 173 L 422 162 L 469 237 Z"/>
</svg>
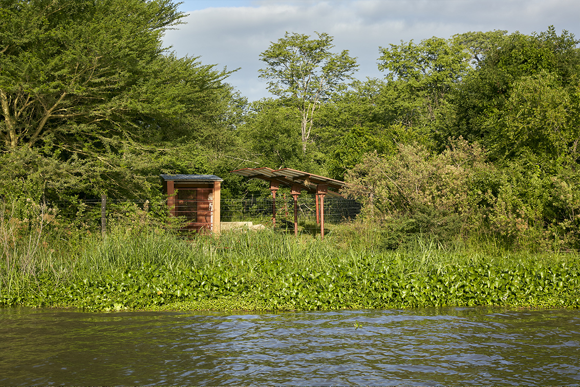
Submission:
<svg viewBox="0 0 580 387">
<path fill-rule="evenodd" d="M 220 233 L 220 187 L 215 175 L 160 175 L 173 216 L 187 219 L 186 230 Z"/>
</svg>

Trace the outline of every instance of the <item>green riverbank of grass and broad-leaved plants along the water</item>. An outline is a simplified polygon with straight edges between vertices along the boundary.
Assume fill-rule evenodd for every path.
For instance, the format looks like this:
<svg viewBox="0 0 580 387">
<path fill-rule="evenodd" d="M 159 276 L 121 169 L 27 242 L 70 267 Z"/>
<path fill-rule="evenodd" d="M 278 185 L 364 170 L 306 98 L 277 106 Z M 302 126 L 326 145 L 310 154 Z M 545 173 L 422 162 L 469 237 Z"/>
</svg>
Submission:
<svg viewBox="0 0 580 387">
<path fill-rule="evenodd" d="M 475 246 L 475 247 L 474 247 Z M 6 251 L 6 249 L 5 249 Z M 499 305 L 578 308 L 578 254 L 418 238 L 396 250 L 351 235 L 178 238 L 113 230 L 16 248 L 0 305 L 85 310 L 314 310 Z"/>
</svg>

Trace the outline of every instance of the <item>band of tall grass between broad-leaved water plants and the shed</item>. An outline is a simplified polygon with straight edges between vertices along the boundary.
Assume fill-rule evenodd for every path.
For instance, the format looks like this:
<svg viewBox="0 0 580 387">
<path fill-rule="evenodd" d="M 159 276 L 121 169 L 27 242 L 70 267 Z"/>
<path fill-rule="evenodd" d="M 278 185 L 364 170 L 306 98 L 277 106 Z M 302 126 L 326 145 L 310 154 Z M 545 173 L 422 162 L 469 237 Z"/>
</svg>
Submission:
<svg viewBox="0 0 580 387">
<path fill-rule="evenodd" d="M 372 270 L 369 262 L 376 267 L 387 262 L 407 277 L 480 263 L 508 268 L 535 261 L 578 262 L 577 254 L 510 252 L 493 240 L 477 238 L 441 243 L 429 235 L 419 235 L 397 249 L 387 249 L 379 229 L 357 222 L 328 225 L 324 240 L 311 232 L 316 225 L 305 223 L 298 237 L 272 229 L 185 237 L 158 224 L 137 227 L 136 222 L 143 219 L 137 216 L 111 222 L 102 236 L 63 227 L 56 213 L 45 206 L 31 208 L 31 215 L 24 220 L 6 207 L 0 209 L 0 295 L 17 296 L 38 285 L 40 278 L 66 285 L 143 264 L 162 267 L 166 273 L 226 266 L 251 282 L 260 281 L 255 269 L 260 262 L 276 262 L 281 272 L 327 272 L 341 266 L 354 273 Z"/>
</svg>

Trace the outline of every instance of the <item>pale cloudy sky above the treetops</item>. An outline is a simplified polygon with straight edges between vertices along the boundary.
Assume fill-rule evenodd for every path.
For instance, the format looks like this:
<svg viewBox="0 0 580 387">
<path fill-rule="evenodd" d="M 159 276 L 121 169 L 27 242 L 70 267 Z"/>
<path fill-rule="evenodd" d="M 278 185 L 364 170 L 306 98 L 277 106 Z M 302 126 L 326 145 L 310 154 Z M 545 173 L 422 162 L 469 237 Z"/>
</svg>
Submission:
<svg viewBox="0 0 580 387">
<path fill-rule="evenodd" d="M 379 46 L 411 39 L 449 38 L 468 31 L 542 32 L 553 25 L 580 39 L 578 0 L 182 0 L 186 24 L 167 31 L 164 44 L 177 56 L 200 57 L 235 71 L 226 82 L 248 100 L 272 95 L 258 70 L 259 56 L 285 32 L 334 37 L 332 52 L 349 50 L 355 77 L 383 78 Z"/>
</svg>

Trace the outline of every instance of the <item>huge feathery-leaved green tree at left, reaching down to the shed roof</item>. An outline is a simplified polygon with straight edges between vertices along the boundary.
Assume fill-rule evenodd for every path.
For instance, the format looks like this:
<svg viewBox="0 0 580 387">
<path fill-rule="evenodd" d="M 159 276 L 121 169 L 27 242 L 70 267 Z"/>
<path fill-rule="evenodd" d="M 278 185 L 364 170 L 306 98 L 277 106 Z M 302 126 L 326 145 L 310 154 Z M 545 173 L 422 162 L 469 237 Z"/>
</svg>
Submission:
<svg viewBox="0 0 580 387">
<path fill-rule="evenodd" d="M 206 168 L 183 162 L 206 132 L 206 153 L 231 142 L 230 72 L 162 46 L 177 6 L 0 0 L 0 165 L 20 166 L 0 168 L 0 196 L 27 179 L 57 198 L 150 195 L 159 173 Z"/>
</svg>

